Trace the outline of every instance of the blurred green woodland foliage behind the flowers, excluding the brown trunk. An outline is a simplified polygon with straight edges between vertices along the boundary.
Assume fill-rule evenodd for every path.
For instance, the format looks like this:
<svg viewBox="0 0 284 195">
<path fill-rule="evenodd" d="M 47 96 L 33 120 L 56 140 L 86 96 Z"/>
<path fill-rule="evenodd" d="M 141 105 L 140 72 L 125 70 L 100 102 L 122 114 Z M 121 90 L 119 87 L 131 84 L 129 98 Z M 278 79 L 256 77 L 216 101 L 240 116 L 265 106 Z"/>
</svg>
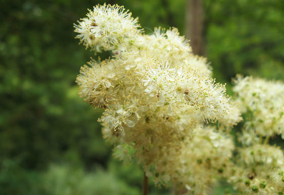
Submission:
<svg viewBox="0 0 284 195">
<path fill-rule="evenodd" d="M 80 67 L 94 55 L 73 23 L 103 3 L 124 5 L 146 33 L 186 34 L 186 0 L 0 1 L 0 194 L 140 194 L 143 172 L 112 157 L 94 110 L 77 95 Z M 202 53 L 214 77 L 284 80 L 284 2 L 203 0 Z M 220 181 L 212 193 L 231 191 Z M 150 193 L 170 193 L 150 183 Z"/>
</svg>

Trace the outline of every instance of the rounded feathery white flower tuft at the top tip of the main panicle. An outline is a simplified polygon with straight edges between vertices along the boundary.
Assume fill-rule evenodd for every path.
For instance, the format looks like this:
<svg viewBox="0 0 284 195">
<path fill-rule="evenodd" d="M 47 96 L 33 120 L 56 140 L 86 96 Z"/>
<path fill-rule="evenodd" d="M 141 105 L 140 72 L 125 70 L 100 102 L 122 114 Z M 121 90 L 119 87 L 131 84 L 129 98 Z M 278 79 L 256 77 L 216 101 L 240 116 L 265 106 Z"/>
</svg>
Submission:
<svg viewBox="0 0 284 195">
<path fill-rule="evenodd" d="M 121 39 L 132 36 L 139 32 L 138 19 L 131 17 L 131 13 L 125 12 L 123 7 L 118 5 L 97 5 L 93 11 L 89 10 L 87 18 L 75 24 L 75 32 L 86 47 L 100 50 L 113 50 Z"/>
</svg>

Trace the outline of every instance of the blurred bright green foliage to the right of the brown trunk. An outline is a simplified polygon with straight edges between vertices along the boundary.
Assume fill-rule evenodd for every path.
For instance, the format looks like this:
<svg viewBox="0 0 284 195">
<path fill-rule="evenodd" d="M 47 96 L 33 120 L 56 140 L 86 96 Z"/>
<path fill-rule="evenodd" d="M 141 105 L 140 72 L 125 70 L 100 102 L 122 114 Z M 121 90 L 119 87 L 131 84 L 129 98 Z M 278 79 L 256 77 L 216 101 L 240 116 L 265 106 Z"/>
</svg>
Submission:
<svg viewBox="0 0 284 195">
<path fill-rule="evenodd" d="M 284 80 L 284 2 L 205 1 L 205 34 L 215 77 Z"/>
</svg>

